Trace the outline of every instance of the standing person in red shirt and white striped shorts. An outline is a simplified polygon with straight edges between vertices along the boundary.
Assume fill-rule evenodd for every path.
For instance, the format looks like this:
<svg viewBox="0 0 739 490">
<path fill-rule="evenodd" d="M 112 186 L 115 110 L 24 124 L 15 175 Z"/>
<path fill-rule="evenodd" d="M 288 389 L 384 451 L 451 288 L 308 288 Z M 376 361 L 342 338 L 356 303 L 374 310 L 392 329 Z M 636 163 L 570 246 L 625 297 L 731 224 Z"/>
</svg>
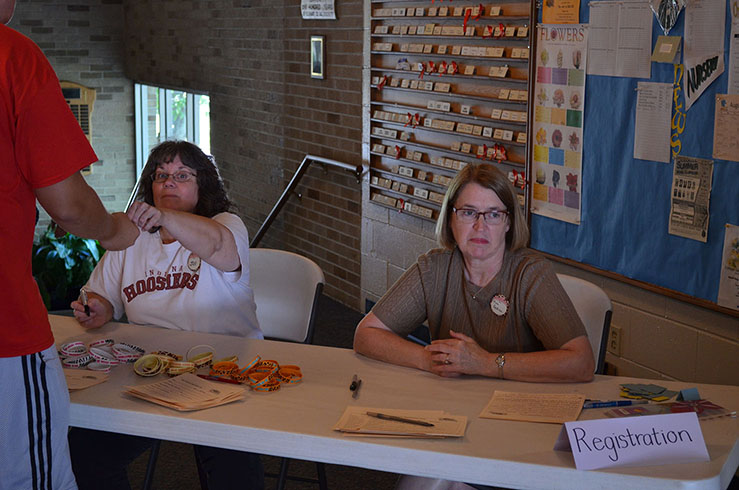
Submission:
<svg viewBox="0 0 739 490">
<path fill-rule="evenodd" d="M 124 249 L 138 228 L 109 214 L 79 170 L 97 161 L 41 50 L 5 26 L 0 0 L 0 490 L 76 489 L 69 394 L 31 275 L 36 199 L 65 230 Z"/>
</svg>

